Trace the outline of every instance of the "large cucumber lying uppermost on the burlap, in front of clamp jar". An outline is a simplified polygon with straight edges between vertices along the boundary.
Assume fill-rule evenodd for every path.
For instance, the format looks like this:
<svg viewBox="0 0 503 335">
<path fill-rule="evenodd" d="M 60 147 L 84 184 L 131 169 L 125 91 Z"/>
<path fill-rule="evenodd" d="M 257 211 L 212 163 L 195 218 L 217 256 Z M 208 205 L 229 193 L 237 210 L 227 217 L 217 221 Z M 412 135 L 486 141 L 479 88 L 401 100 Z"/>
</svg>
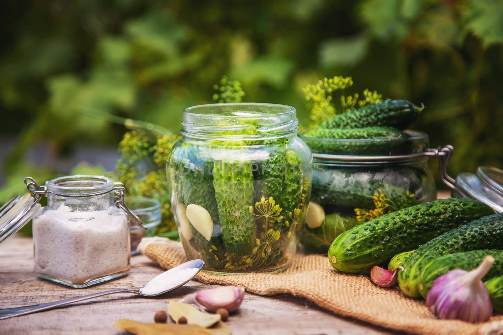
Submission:
<svg viewBox="0 0 503 335">
<path fill-rule="evenodd" d="M 468 198 L 439 199 L 400 209 L 339 235 L 328 250 L 328 260 L 336 270 L 358 273 L 491 212 L 487 205 Z"/>
</svg>

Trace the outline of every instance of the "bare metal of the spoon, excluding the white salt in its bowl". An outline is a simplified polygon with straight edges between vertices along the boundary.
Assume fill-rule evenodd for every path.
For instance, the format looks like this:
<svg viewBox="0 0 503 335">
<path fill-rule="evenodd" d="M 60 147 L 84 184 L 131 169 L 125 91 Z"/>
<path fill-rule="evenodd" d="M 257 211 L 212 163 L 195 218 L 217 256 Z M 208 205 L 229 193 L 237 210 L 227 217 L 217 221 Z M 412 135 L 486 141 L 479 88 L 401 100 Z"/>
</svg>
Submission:
<svg viewBox="0 0 503 335">
<path fill-rule="evenodd" d="M 172 268 L 170 270 L 167 270 L 167 271 L 161 273 L 160 275 L 158 275 L 158 276 L 150 279 L 149 282 L 155 280 L 157 277 L 162 276 L 166 272 L 173 272 L 175 274 L 179 270 L 184 270 L 184 269 L 188 269 L 188 268 L 197 268 L 197 269 L 199 269 L 196 272 L 196 274 L 198 274 L 199 271 L 201 271 L 201 269 L 203 268 L 203 266 L 204 266 L 203 260 L 195 259 L 195 260 L 192 260 L 192 261 L 188 261 L 188 262 L 185 262 L 183 264 L 180 264 L 177 267 L 174 267 L 174 268 Z M 196 274 L 194 274 L 194 276 Z M 133 290 L 133 289 L 129 289 L 129 288 L 118 288 L 118 289 L 115 289 L 115 290 L 109 290 L 109 291 L 104 291 L 104 292 L 99 292 L 99 293 L 94 293 L 94 294 L 89 294 L 89 295 L 83 295 L 83 296 L 80 296 L 80 297 L 75 297 L 75 298 L 70 298 L 70 299 L 65 299 L 65 300 L 59 300 L 59 301 L 41 303 L 41 304 L 38 304 L 38 305 L 20 306 L 20 307 L 12 307 L 12 308 L 0 309 L 0 319 L 7 319 L 7 318 L 13 317 L 13 316 L 19 316 L 19 315 L 25 315 L 25 314 L 31 314 L 31 313 L 35 313 L 35 312 L 40 312 L 42 310 L 52 309 L 52 308 L 63 306 L 63 305 L 67 305 L 67 304 L 70 304 L 70 303 L 73 303 L 73 302 L 77 302 L 77 301 L 81 301 L 81 300 L 86 300 L 86 299 L 91 299 L 91 298 L 96 298 L 96 297 L 99 297 L 99 296 L 102 296 L 102 295 L 108 295 L 108 294 L 114 294 L 114 293 L 127 292 L 127 293 L 138 294 L 138 295 L 145 296 L 145 297 L 153 297 L 153 296 L 157 296 L 157 295 L 169 292 L 169 291 L 173 291 L 174 289 L 177 289 L 180 286 L 185 285 L 189 280 L 191 280 L 192 278 L 194 278 L 194 276 L 192 276 L 191 278 L 189 278 L 187 280 L 185 280 L 184 278 L 182 278 L 182 279 L 180 279 L 181 280 L 180 283 L 177 283 L 176 285 L 168 288 L 165 291 L 156 292 L 155 294 L 144 294 L 144 293 L 141 293 L 141 289 L 143 287 L 145 287 L 148 284 L 147 283 L 147 284 L 143 285 L 143 287 L 141 287 L 140 289 L 137 289 L 137 290 Z"/>
</svg>

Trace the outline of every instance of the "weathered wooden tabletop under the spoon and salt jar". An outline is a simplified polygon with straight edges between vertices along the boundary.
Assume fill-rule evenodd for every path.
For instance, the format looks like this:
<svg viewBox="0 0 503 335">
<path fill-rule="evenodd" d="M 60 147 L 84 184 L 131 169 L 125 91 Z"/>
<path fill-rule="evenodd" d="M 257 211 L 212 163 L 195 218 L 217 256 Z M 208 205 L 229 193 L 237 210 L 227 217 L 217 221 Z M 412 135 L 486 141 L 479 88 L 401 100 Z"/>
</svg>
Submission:
<svg viewBox="0 0 503 335">
<path fill-rule="evenodd" d="M 0 308 L 67 299 L 113 288 L 139 287 L 162 269 L 145 256 L 131 257 L 128 276 L 92 286 L 72 289 L 38 279 L 33 272 L 31 238 L 14 236 L 0 245 Z M 157 298 L 127 293 L 103 296 L 71 307 L 0 320 L 0 334 L 123 334 L 112 324 L 122 318 L 153 322 L 158 310 L 170 300 L 215 285 L 191 281 Z M 264 297 L 246 294 L 237 314 L 227 324 L 233 334 L 384 334 L 389 330 L 336 316 L 304 298 L 288 295 Z"/>
</svg>

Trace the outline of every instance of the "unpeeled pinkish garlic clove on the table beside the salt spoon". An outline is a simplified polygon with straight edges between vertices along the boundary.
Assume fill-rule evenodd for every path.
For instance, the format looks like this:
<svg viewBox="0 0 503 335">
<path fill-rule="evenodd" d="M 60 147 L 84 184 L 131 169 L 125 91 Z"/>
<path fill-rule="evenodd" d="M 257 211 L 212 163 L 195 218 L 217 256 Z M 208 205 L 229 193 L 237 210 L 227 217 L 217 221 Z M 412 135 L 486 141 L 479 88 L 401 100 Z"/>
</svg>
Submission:
<svg viewBox="0 0 503 335">
<path fill-rule="evenodd" d="M 225 308 L 229 312 L 236 311 L 244 298 L 244 288 L 223 286 L 202 290 L 196 293 L 195 300 L 212 312 Z"/>
</svg>

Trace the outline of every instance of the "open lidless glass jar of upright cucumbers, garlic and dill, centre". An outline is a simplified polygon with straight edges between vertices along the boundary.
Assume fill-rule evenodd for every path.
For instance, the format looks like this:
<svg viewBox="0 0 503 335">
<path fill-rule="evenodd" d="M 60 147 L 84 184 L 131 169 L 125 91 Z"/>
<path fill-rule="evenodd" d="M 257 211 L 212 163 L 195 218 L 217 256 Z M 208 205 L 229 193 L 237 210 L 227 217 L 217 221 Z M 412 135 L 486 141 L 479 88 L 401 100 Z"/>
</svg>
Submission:
<svg viewBox="0 0 503 335">
<path fill-rule="evenodd" d="M 188 259 L 213 273 L 288 268 L 304 226 L 312 156 L 295 108 L 217 103 L 186 108 L 167 160 Z"/>
</svg>

